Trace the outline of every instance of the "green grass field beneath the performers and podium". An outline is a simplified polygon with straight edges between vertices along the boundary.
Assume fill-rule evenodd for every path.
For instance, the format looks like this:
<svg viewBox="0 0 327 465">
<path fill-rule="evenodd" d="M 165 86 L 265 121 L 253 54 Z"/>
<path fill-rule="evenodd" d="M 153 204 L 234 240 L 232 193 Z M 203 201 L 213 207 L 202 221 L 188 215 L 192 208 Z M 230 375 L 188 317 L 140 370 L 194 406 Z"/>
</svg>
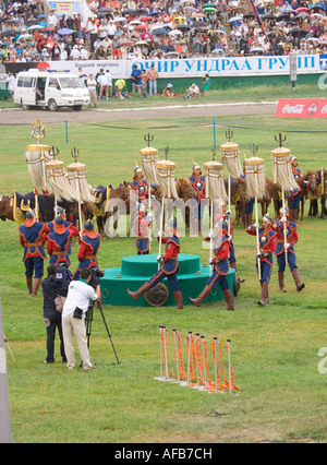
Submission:
<svg viewBox="0 0 327 465">
<path fill-rule="evenodd" d="M 262 97 L 261 97 L 262 98 Z M 275 98 L 275 96 L 274 96 Z M 245 99 L 245 98 L 244 98 Z M 269 98 L 270 99 L 270 98 Z M 41 119 L 41 114 L 40 114 Z M 284 146 L 298 156 L 302 170 L 326 166 L 326 124 L 323 120 L 282 120 L 257 117 L 216 118 L 217 159 L 225 131 L 232 129 L 240 156 L 251 156 L 258 145 L 271 176 L 270 151 L 275 135 L 287 134 Z M 203 165 L 211 158 L 213 120 L 209 118 L 120 121 L 70 124 L 65 143 L 64 122 L 48 124 L 44 140 L 58 146 L 59 159 L 72 162 L 70 151 L 80 150 L 92 184 L 117 186 L 131 180 L 140 163 L 144 135 L 153 133 L 153 146 L 177 164 L 177 176 L 190 176 L 193 159 Z M 2 127 L 0 169 L 2 194 L 32 190 L 24 147 L 32 142 L 28 126 Z M 307 212 L 307 208 L 306 208 Z M 272 213 L 272 212 L 271 212 Z M 98 365 L 96 370 L 69 372 L 61 363 L 57 341 L 55 365 L 45 366 L 46 331 L 43 298 L 25 288 L 23 250 L 17 225 L 0 222 L 0 272 L 3 326 L 15 362 L 9 353 L 8 381 L 14 442 L 325 442 L 327 374 L 318 371 L 318 350 L 326 347 L 326 228 L 318 217 L 299 226 L 296 259 L 305 289 L 295 290 L 286 273 L 287 294 L 280 294 L 277 266 L 269 286 L 270 303 L 257 306 L 255 240 L 235 227 L 234 245 L 240 276 L 245 278 L 235 298 L 235 311 L 225 302 L 201 308 L 114 308 L 104 311 L 112 333 L 120 365 Z M 181 239 L 183 253 L 208 259 L 202 238 Z M 98 258 L 102 269 L 119 266 L 135 253 L 134 239 L 102 241 Z M 156 252 L 155 252 L 156 253 Z M 77 260 L 73 247 L 72 266 Z M 207 394 L 154 380 L 159 374 L 159 324 L 175 327 L 183 337 L 199 332 L 225 344 L 231 338 L 232 363 L 239 396 Z M 114 362 L 100 314 L 95 314 L 90 341 L 93 360 Z M 211 373 L 213 374 L 213 373 Z"/>
</svg>

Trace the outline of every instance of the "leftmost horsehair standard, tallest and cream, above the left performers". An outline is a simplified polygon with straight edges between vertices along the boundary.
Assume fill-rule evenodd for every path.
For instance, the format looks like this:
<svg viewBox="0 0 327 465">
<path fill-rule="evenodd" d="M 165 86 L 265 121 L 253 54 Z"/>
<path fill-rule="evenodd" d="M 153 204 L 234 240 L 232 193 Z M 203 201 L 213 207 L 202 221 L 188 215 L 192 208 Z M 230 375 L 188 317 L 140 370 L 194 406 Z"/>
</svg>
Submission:
<svg viewBox="0 0 327 465">
<path fill-rule="evenodd" d="M 49 145 L 33 144 L 25 147 L 25 159 L 34 188 L 38 192 L 47 191 L 45 163 L 53 159 L 49 155 Z"/>
</svg>

